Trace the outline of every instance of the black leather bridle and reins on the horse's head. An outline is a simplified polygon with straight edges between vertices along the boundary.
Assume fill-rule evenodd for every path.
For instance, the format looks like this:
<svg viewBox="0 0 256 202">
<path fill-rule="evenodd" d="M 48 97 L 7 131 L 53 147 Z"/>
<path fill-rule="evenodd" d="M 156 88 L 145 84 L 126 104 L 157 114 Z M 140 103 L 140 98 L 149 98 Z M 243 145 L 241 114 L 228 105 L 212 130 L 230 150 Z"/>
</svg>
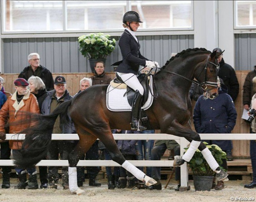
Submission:
<svg viewBox="0 0 256 202">
<path fill-rule="evenodd" d="M 198 81 L 195 81 L 195 80 L 188 79 L 187 77 L 184 77 L 184 76 L 182 76 L 182 75 L 180 75 L 180 74 L 178 74 L 178 73 L 175 73 L 175 72 L 170 72 L 170 71 L 168 71 L 168 70 L 165 70 L 165 69 L 162 69 L 162 68 L 159 68 L 159 67 L 156 67 L 156 68 L 157 68 L 157 69 L 160 69 L 161 71 L 165 71 L 165 72 L 168 72 L 168 73 L 177 75 L 177 76 L 179 76 L 179 77 L 182 77 L 183 79 L 186 79 L 187 81 L 190 81 L 190 82 L 192 82 L 192 83 L 197 84 L 198 86 L 201 86 L 201 88 L 202 88 L 203 90 L 207 90 L 208 86 L 215 86 L 215 87 L 218 87 L 218 83 L 217 83 L 217 82 L 206 81 L 206 79 L 207 79 L 207 65 L 208 65 L 208 63 L 213 64 L 215 67 L 219 68 L 219 63 L 218 63 L 218 64 L 215 64 L 215 63 L 213 63 L 213 62 L 210 62 L 209 59 L 210 59 L 210 55 L 208 55 L 207 61 L 206 61 L 206 63 L 204 64 L 204 81 L 203 81 L 202 83 L 199 83 Z M 202 71 L 203 71 L 203 70 L 202 70 Z M 201 73 L 202 73 L 202 72 L 201 72 Z M 201 73 L 200 73 L 200 74 L 201 74 Z M 199 75 L 200 75 L 200 74 L 199 74 Z"/>
</svg>

